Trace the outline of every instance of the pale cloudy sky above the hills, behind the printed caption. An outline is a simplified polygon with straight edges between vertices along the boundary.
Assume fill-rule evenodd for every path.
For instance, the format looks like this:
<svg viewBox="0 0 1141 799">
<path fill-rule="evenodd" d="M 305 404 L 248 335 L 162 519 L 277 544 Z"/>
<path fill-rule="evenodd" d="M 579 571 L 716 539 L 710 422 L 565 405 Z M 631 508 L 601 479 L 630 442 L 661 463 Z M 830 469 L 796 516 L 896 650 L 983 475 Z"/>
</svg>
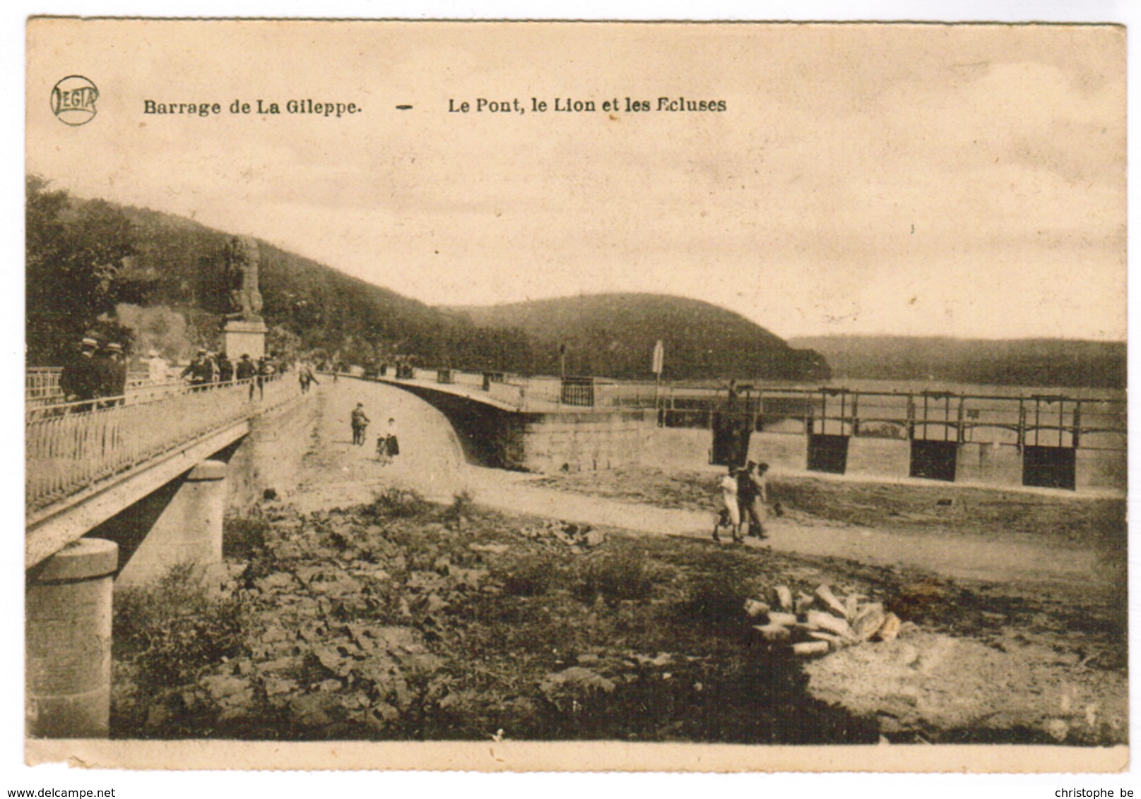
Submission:
<svg viewBox="0 0 1141 799">
<path fill-rule="evenodd" d="M 1122 28 L 29 31 L 29 171 L 430 304 L 655 292 L 783 337 L 1126 335 Z M 68 74 L 100 91 L 81 127 L 48 101 Z M 536 113 L 533 97 L 596 111 Z M 628 97 L 653 111 L 626 112 Z M 726 109 L 657 109 L 679 97 Z M 363 111 L 228 113 L 259 98 Z M 450 112 L 478 98 L 526 113 Z M 147 99 L 222 114 L 146 114 Z"/>
</svg>

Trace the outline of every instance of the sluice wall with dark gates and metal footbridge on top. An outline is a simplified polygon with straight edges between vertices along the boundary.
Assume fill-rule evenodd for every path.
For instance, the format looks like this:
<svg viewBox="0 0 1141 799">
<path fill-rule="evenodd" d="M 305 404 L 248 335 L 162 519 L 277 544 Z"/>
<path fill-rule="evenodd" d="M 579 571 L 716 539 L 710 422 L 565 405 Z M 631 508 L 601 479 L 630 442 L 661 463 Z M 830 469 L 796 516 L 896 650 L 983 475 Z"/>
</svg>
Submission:
<svg viewBox="0 0 1141 799">
<path fill-rule="evenodd" d="M 469 439 L 482 439 L 495 466 L 576 471 L 683 460 L 693 467 L 754 458 L 790 471 L 871 479 L 1125 487 L 1127 417 L 1119 392 L 730 390 L 448 368 L 366 378 L 437 405 L 461 433 L 467 427 Z"/>
</svg>

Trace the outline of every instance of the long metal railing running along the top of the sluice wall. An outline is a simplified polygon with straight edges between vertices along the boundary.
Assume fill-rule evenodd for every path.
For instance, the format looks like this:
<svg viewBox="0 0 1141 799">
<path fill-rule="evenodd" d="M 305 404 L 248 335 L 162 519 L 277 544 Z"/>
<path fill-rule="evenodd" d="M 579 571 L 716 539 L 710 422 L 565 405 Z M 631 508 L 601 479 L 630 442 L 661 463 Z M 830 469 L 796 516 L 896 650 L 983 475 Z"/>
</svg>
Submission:
<svg viewBox="0 0 1141 799">
<path fill-rule="evenodd" d="M 731 401 L 725 388 L 655 384 L 649 381 L 521 377 L 448 369 L 450 384 L 435 370 L 416 369 L 411 380 L 439 390 L 482 394 L 524 413 L 657 410 L 667 427 L 711 430 L 714 418 L 748 417 L 754 430 L 790 434 L 1050 446 L 1124 450 L 1126 410 L 1122 400 L 1082 396 L 869 391 L 841 386 L 738 386 Z"/>
</svg>

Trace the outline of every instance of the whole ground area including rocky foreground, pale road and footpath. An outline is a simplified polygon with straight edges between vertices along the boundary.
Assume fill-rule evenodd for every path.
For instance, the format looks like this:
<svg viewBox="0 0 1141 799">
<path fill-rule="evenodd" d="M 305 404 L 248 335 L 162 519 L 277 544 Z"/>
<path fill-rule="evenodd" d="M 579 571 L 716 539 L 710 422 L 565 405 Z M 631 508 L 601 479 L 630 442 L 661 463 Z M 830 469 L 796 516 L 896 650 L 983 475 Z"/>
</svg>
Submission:
<svg viewBox="0 0 1141 799">
<path fill-rule="evenodd" d="M 227 519 L 207 587 L 116 592 L 115 736 L 1127 740 L 1122 499 L 776 474 L 768 546 L 719 546 L 713 471 L 474 468 L 415 398 L 321 389 L 298 486 Z M 357 401 L 398 463 L 351 446 Z M 759 639 L 746 600 L 822 584 L 909 623 Z"/>
</svg>

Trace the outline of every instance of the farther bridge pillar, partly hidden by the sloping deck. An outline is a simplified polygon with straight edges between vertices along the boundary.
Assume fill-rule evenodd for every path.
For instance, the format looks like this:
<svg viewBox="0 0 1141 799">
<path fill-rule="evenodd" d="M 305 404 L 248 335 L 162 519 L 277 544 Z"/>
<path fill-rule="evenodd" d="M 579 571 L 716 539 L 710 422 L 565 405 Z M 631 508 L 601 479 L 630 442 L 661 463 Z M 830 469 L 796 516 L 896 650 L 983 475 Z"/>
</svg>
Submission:
<svg viewBox="0 0 1141 799">
<path fill-rule="evenodd" d="M 154 582 L 171 566 L 221 563 L 221 523 L 226 511 L 226 464 L 203 460 L 192 468 L 131 560 L 120 586 Z"/>
</svg>

